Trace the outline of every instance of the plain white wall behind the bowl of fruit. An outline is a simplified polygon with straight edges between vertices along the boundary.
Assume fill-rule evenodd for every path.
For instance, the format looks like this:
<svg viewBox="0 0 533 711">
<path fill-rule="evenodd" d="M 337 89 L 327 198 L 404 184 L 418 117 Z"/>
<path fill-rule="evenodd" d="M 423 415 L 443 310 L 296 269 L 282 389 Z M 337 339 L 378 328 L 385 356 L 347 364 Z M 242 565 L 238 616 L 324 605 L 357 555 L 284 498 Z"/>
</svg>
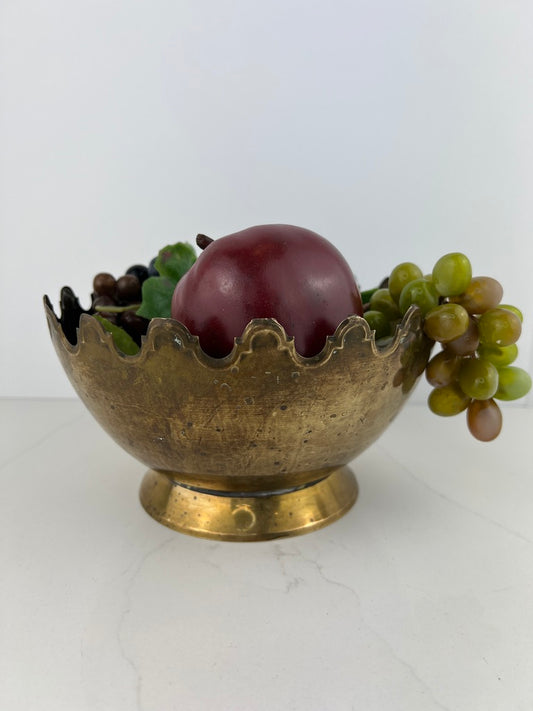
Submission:
<svg viewBox="0 0 533 711">
<path fill-rule="evenodd" d="M 0 395 L 74 394 L 44 293 L 263 222 L 365 288 L 466 252 L 533 371 L 532 37 L 531 0 L 3 0 Z"/>
</svg>

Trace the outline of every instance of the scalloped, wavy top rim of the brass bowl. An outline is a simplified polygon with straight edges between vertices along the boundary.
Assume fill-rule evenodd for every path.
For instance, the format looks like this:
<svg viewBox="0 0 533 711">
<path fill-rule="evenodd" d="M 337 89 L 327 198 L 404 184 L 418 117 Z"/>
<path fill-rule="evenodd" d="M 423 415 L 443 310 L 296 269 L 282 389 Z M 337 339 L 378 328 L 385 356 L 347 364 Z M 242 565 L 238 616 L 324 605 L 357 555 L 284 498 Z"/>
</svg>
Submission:
<svg viewBox="0 0 533 711">
<path fill-rule="evenodd" d="M 128 362 L 141 361 L 146 357 L 147 353 L 158 350 L 160 346 L 157 341 L 160 341 L 160 337 L 163 336 L 163 343 L 167 344 L 173 342 L 180 348 L 190 348 L 199 363 L 214 369 L 236 365 L 243 354 L 248 354 L 253 351 L 254 339 L 259 334 L 264 334 L 265 332 L 270 332 L 275 336 L 278 341 L 278 349 L 287 350 L 296 365 L 318 366 L 326 363 L 333 353 L 343 349 L 347 336 L 352 332 L 359 331 L 361 335 L 358 340 L 360 340 L 361 343 L 368 343 L 374 356 L 383 358 L 391 355 L 399 348 L 409 334 L 415 333 L 418 329 L 422 328 L 420 310 L 416 306 L 411 306 L 401 322 L 396 326 L 395 333 L 391 337 L 390 342 L 385 346 L 378 346 L 376 344 L 375 331 L 371 330 L 368 322 L 362 316 L 348 316 L 337 326 L 335 333 L 327 337 L 324 348 L 320 353 L 308 358 L 297 352 L 294 346 L 294 338 L 287 335 L 285 329 L 278 321 L 272 318 L 253 319 L 245 327 L 242 335 L 235 338 L 231 352 L 227 356 L 224 356 L 224 358 L 214 358 L 202 350 L 198 336 L 192 335 L 188 328 L 182 323 L 170 318 L 154 318 L 148 325 L 146 336 L 142 338 L 142 345 L 139 352 L 135 355 L 126 355 L 116 347 L 111 333 L 107 332 L 90 314 L 85 313 L 81 315 L 80 325 L 77 328 L 78 341 L 73 345 L 67 340 L 63 333 L 60 321 L 48 296 L 45 295 L 43 297 L 43 303 L 50 328 L 54 329 L 63 348 L 72 355 L 76 355 L 80 351 L 82 343 L 88 340 L 94 340 L 94 336 L 96 336 L 98 340 L 114 352 L 117 357 L 127 360 Z M 91 336 L 93 338 L 91 338 Z"/>
</svg>

